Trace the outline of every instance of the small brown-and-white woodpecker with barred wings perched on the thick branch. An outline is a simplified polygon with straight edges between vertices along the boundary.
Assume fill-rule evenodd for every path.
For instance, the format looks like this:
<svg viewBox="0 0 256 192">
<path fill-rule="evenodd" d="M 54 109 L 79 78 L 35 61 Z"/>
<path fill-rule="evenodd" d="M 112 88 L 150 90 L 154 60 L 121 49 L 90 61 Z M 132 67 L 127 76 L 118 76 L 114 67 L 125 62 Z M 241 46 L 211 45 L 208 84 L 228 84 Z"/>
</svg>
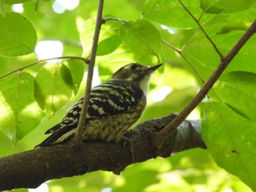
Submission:
<svg viewBox="0 0 256 192">
<path fill-rule="evenodd" d="M 145 110 L 148 83 L 159 66 L 162 64 L 127 64 L 118 69 L 110 80 L 92 88 L 81 138 L 119 142 Z M 53 145 L 74 136 L 82 106 L 83 98 L 67 112 L 61 123 L 45 132 L 51 133 L 50 137 L 36 147 Z"/>
</svg>

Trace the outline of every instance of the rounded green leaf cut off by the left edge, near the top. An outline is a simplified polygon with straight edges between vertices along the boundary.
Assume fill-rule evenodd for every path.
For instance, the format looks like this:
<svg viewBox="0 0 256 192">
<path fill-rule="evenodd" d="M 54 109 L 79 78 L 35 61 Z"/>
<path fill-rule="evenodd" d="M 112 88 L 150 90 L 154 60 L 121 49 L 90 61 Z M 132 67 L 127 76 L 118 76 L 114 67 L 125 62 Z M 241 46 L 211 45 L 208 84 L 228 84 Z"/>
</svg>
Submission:
<svg viewBox="0 0 256 192">
<path fill-rule="evenodd" d="M 0 15 L 0 55 L 15 57 L 34 52 L 37 33 L 31 22 L 17 12 Z"/>
</svg>

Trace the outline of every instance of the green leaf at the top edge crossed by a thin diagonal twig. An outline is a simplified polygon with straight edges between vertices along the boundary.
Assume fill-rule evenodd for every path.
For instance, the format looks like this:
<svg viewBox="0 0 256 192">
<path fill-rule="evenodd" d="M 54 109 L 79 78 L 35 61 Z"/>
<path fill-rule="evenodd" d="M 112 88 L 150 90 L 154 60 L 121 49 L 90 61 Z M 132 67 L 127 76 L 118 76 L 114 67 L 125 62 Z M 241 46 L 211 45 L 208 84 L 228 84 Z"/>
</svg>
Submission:
<svg viewBox="0 0 256 192">
<path fill-rule="evenodd" d="M 203 15 L 199 0 L 183 0 L 182 2 L 195 18 L 199 19 Z M 142 14 L 143 18 L 171 28 L 189 29 L 198 27 L 195 20 L 191 18 L 178 0 L 148 0 L 144 4 Z M 203 15 L 200 18 L 200 23 L 206 23 L 211 18 L 213 18 L 213 15 Z"/>
</svg>

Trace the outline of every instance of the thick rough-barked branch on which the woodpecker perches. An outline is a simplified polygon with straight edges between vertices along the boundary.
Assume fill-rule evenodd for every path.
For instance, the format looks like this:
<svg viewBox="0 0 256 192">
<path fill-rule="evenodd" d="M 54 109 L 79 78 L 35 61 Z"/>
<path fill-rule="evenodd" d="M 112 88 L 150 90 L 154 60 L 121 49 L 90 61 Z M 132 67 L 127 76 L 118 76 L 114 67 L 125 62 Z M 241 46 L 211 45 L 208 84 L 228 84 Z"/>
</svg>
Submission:
<svg viewBox="0 0 256 192">
<path fill-rule="evenodd" d="M 127 133 L 134 150 L 134 162 L 129 142 L 124 147 L 124 142 L 87 141 L 71 145 L 71 140 L 0 158 L 0 191 L 37 188 L 47 180 L 97 170 L 119 174 L 135 162 L 167 157 L 189 148 L 205 148 L 200 135 L 200 120 L 184 121 L 164 143 L 159 140 L 158 131 L 175 116 L 148 120 Z"/>
</svg>

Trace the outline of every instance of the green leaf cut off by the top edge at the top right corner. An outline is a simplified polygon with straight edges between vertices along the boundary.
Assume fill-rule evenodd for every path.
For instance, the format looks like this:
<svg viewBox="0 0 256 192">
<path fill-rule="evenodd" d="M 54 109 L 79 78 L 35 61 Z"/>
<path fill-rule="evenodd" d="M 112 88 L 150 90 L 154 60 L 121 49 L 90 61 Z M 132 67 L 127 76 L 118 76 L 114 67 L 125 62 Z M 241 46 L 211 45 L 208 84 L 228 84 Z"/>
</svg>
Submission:
<svg viewBox="0 0 256 192">
<path fill-rule="evenodd" d="M 255 4 L 255 0 L 248 0 L 246 3 L 244 0 L 200 0 L 200 4 L 206 13 L 230 14 L 249 9 Z"/>
</svg>

